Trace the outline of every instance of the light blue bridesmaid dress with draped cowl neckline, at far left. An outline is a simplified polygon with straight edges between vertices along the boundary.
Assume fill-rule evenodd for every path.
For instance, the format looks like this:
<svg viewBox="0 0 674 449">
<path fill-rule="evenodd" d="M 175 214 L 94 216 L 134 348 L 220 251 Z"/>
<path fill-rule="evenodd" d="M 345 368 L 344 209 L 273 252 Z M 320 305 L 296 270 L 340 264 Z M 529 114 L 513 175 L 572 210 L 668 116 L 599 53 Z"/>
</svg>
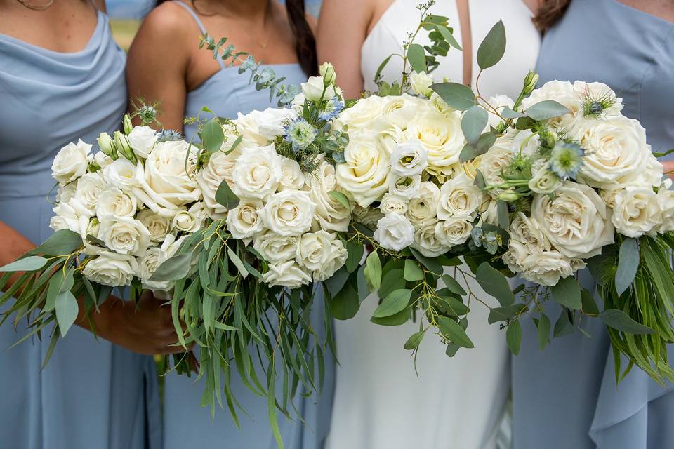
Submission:
<svg viewBox="0 0 674 449">
<path fill-rule="evenodd" d="M 58 53 L 0 34 L 0 220 L 33 243 L 51 233 L 51 162 L 68 142 L 93 142 L 126 109 L 124 52 L 107 16 L 86 48 Z M 73 326 L 44 370 L 49 333 L 0 326 L 0 448 L 143 449 L 161 445 L 152 358 Z"/>
</svg>

